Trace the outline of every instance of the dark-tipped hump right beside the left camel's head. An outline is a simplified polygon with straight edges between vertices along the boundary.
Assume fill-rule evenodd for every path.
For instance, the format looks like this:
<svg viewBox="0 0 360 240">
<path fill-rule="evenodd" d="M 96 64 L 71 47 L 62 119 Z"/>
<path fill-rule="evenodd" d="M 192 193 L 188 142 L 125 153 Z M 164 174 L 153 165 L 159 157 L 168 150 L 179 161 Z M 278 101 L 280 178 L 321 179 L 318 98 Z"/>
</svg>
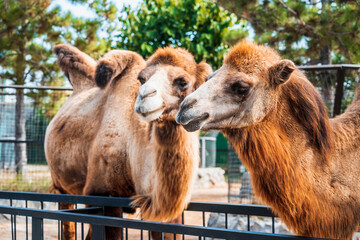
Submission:
<svg viewBox="0 0 360 240">
<path fill-rule="evenodd" d="M 95 72 L 95 83 L 100 88 L 105 88 L 109 82 L 127 70 L 145 66 L 145 60 L 137 53 L 126 50 L 112 50 L 100 58 Z"/>
</svg>

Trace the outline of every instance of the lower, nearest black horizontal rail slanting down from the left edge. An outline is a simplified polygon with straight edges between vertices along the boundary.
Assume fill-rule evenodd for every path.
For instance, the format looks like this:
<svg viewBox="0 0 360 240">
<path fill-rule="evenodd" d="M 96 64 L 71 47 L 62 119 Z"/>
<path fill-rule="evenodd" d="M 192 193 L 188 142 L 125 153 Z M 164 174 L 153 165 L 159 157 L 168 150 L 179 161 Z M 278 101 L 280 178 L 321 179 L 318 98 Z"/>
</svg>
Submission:
<svg viewBox="0 0 360 240">
<path fill-rule="evenodd" d="M 89 223 L 92 225 L 130 228 L 139 230 L 148 230 L 154 232 L 167 232 L 175 234 L 184 234 L 192 236 L 203 236 L 221 239 L 314 239 L 308 237 L 298 237 L 282 234 L 258 233 L 240 230 L 231 230 L 213 227 L 198 227 L 189 225 L 180 225 L 173 223 L 160 223 L 151 221 L 139 221 L 132 219 L 114 218 L 107 216 L 94 216 L 81 213 L 69 213 L 60 211 L 26 209 L 17 207 L 0 206 L 0 213 L 19 216 L 28 216 L 35 219 L 52 219 L 71 222 Z"/>
</svg>

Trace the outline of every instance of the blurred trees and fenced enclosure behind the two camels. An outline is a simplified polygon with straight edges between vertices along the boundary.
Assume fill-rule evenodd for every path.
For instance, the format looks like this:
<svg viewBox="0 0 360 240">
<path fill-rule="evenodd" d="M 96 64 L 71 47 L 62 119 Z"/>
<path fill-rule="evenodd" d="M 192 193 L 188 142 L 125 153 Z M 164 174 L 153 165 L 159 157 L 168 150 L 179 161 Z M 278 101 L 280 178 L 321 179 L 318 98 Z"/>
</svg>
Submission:
<svg viewBox="0 0 360 240">
<path fill-rule="evenodd" d="M 52 53 L 58 43 L 94 59 L 111 49 L 146 58 L 159 47 L 183 47 L 217 69 L 229 48 L 246 38 L 298 66 L 330 66 L 304 70 L 335 116 L 351 103 L 359 72 L 331 66 L 360 63 L 359 26 L 359 1 L 0 0 L 0 190 L 50 186 L 44 133 L 71 94 Z M 202 166 L 226 171 L 234 201 L 241 188 L 251 194 L 246 169 L 227 140 L 218 132 L 201 134 Z"/>
</svg>

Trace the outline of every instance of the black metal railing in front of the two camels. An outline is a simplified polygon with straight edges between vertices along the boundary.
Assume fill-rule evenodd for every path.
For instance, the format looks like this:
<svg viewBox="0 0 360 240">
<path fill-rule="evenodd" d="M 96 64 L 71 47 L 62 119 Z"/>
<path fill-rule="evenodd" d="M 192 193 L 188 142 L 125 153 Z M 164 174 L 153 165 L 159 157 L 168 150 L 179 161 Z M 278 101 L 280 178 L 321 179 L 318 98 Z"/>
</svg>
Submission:
<svg viewBox="0 0 360 240">
<path fill-rule="evenodd" d="M 71 221 L 81 224 L 80 231 L 75 228 L 75 239 L 84 239 L 84 223 L 92 225 L 92 239 L 105 239 L 104 226 L 122 228 L 121 239 L 130 239 L 130 230 L 138 230 L 140 234 L 133 239 L 150 239 L 150 232 L 161 232 L 161 239 L 164 233 L 171 233 L 176 239 L 176 234 L 182 235 L 182 239 L 314 239 L 298 237 L 293 235 L 284 235 L 275 233 L 276 216 L 266 206 L 260 205 L 240 205 L 229 203 L 208 203 L 208 202 L 191 202 L 183 213 L 182 224 L 160 223 L 143 221 L 138 219 L 125 218 L 123 211 L 119 217 L 103 216 L 104 207 L 120 207 L 128 208 L 131 199 L 115 198 L 115 197 L 98 197 L 98 196 L 76 196 L 76 195 L 57 195 L 57 194 L 39 194 L 39 193 L 23 193 L 23 192 L 7 192 L 0 191 L 0 199 L 8 199 L 9 206 L 0 206 L 0 214 L 11 215 L 11 239 L 17 239 L 17 216 L 26 217 L 26 239 L 31 237 L 33 240 L 49 239 L 44 237 L 46 229 L 44 220 L 58 221 L 57 239 L 62 238 L 62 221 Z M 25 202 L 25 207 L 14 206 L 15 201 Z M 29 208 L 29 202 L 39 202 L 40 209 Z M 45 210 L 44 203 L 72 203 L 76 204 L 72 210 Z M 92 207 L 77 208 L 79 204 L 86 204 Z M 185 225 L 187 222 L 186 212 L 197 212 L 202 214 L 201 223 L 195 225 Z M 206 226 L 206 218 L 209 213 L 222 213 L 225 215 L 225 228 L 215 228 Z M 247 229 L 234 230 L 229 229 L 228 217 L 233 215 L 245 215 L 247 217 Z M 250 231 L 250 221 L 252 216 L 260 216 L 271 218 L 271 233 Z M 77 225 L 76 225 L 77 226 Z M 124 233 L 125 232 L 125 233 Z M 79 236 L 78 236 L 79 235 Z M 192 237 L 192 238 L 191 238 Z M 25 238 L 21 238 L 25 239 Z"/>
</svg>

